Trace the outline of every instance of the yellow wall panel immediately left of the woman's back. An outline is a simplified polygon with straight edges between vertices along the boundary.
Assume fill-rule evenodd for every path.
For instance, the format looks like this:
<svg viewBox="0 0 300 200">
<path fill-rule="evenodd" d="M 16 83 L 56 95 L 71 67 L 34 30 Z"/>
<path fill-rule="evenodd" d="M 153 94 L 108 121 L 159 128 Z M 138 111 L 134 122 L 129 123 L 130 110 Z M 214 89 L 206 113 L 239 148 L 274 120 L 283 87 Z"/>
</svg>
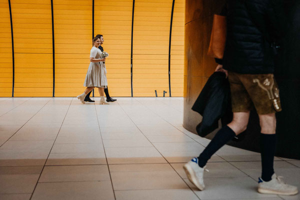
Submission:
<svg viewBox="0 0 300 200">
<path fill-rule="evenodd" d="M 53 0 L 55 96 L 77 96 L 92 47 L 92 1 Z"/>
</svg>

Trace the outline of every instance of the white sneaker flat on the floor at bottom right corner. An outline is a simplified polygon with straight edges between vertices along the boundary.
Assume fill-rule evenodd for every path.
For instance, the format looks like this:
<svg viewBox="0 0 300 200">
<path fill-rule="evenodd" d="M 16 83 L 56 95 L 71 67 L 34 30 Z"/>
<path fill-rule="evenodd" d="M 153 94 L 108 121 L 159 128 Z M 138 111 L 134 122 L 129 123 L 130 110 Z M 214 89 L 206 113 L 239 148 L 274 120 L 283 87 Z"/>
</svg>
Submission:
<svg viewBox="0 0 300 200">
<path fill-rule="evenodd" d="M 294 195 L 298 193 L 296 186 L 286 184 L 281 178 L 282 176 L 276 176 L 275 173 L 272 175 L 272 179 L 270 181 L 263 181 L 259 177 L 257 191 L 259 193 L 280 195 Z"/>
</svg>

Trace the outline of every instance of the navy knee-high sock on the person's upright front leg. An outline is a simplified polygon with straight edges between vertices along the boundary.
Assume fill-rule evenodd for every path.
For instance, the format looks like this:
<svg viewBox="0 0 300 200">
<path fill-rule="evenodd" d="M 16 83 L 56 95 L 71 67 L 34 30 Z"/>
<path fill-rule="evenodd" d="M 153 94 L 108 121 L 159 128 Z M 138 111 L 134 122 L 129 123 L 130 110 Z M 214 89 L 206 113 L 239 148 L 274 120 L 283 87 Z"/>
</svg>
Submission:
<svg viewBox="0 0 300 200">
<path fill-rule="evenodd" d="M 272 179 L 275 150 L 276 134 L 260 133 L 261 179 L 264 181 Z"/>
</svg>

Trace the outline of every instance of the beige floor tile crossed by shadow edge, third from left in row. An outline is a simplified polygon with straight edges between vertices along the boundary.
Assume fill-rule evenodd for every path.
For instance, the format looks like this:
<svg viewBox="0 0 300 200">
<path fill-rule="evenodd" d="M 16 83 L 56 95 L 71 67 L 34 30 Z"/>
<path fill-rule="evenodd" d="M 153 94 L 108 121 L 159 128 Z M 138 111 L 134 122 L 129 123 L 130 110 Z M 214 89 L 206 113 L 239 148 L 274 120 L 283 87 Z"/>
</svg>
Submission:
<svg viewBox="0 0 300 200">
<path fill-rule="evenodd" d="M 154 147 L 105 148 L 105 152 L 109 164 L 166 162 Z"/>
</svg>

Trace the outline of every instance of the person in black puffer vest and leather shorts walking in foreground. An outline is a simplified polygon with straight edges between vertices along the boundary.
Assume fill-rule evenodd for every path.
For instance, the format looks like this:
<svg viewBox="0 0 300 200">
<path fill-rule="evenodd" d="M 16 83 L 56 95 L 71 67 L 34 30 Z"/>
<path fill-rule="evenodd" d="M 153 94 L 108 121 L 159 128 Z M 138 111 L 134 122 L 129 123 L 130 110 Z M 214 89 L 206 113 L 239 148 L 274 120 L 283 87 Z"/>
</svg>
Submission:
<svg viewBox="0 0 300 200">
<path fill-rule="evenodd" d="M 258 192 L 293 195 L 296 186 L 285 184 L 273 169 L 276 144 L 275 112 L 281 110 L 273 76 L 275 46 L 284 33 L 282 0 L 227 0 L 227 37 L 216 71 L 228 74 L 233 119 L 222 127 L 198 157 L 184 164 L 188 179 L 204 189 L 207 160 L 227 141 L 244 131 L 255 108 L 261 126 L 261 177 Z M 222 64 L 222 65 L 221 65 Z"/>
</svg>

